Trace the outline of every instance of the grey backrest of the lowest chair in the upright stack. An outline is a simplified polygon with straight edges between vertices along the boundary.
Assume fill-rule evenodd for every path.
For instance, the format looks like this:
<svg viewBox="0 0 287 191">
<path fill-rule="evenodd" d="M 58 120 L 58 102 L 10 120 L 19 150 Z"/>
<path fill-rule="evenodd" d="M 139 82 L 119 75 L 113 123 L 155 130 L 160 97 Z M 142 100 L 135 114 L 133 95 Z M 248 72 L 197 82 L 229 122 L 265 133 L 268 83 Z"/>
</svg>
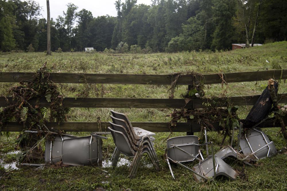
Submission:
<svg viewBox="0 0 287 191">
<path fill-rule="evenodd" d="M 116 131 L 110 127 L 108 127 L 110 133 L 113 135 L 115 145 L 121 151 L 121 153 L 133 157 L 135 155 L 135 151 L 131 148 L 129 140 L 121 131 Z"/>
</svg>

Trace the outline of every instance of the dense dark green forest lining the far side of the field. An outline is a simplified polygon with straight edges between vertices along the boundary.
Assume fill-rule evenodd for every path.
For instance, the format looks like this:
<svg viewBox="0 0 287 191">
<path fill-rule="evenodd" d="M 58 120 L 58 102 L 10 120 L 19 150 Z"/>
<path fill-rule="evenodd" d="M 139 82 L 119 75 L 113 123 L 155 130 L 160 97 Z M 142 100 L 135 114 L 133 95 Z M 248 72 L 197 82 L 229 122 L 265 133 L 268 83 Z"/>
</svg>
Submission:
<svg viewBox="0 0 287 191">
<path fill-rule="evenodd" d="M 228 50 L 232 43 L 287 39 L 287 1 L 281 0 L 115 1 L 117 17 L 93 17 L 67 4 L 51 19 L 52 51 L 177 52 Z M 36 1 L 0 0 L 0 51 L 45 51 L 47 21 Z M 52 10 L 53 7 L 50 7 Z"/>
</svg>

